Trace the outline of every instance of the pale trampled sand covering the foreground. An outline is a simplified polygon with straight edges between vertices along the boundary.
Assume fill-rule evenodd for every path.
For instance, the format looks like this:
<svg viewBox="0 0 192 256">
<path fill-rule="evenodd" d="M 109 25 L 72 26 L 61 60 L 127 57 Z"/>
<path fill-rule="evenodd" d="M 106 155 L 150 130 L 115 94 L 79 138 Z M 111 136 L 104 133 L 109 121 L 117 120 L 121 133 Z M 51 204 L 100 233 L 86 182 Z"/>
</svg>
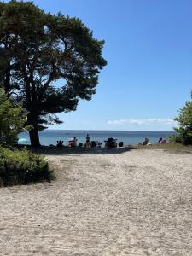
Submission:
<svg viewBox="0 0 192 256">
<path fill-rule="evenodd" d="M 192 154 L 47 159 L 55 181 L 0 189 L 0 255 L 192 255 Z"/>
</svg>

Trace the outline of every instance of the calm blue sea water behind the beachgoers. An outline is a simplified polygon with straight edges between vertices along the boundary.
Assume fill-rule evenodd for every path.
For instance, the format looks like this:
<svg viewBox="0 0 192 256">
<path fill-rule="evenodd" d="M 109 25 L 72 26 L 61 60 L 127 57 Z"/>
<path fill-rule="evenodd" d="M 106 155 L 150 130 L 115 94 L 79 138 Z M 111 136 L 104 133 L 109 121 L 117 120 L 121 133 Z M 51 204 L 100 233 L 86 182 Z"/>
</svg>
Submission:
<svg viewBox="0 0 192 256">
<path fill-rule="evenodd" d="M 143 141 L 145 137 L 149 138 L 149 143 L 156 143 L 160 137 L 167 139 L 168 135 L 174 134 L 174 131 L 77 131 L 77 130 L 45 130 L 39 132 L 41 145 L 56 145 L 56 141 L 64 141 L 67 145 L 72 137 L 77 137 L 78 143 L 85 143 L 85 137 L 90 135 L 91 141 L 99 141 L 104 146 L 104 140 L 108 137 L 117 139 L 117 143 L 124 142 L 124 145 L 137 144 Z M 30 144 L 28 132 L 22 132 L 19 135 L 20 144 Z"/>
</svg>

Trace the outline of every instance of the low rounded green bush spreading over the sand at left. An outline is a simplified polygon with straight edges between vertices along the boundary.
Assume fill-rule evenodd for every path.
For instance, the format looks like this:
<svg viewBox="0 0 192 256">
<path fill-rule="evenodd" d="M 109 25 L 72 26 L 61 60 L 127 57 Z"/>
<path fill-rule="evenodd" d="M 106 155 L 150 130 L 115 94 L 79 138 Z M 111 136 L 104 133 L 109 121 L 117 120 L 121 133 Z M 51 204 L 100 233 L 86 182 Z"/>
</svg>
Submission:
<svg viewBox="0 0 192 256">
<path fill-rule="evenodd" d="M 0 186 L 50 181 L 52 172 L 41 155 L 0 147 Z"/>
</svg>

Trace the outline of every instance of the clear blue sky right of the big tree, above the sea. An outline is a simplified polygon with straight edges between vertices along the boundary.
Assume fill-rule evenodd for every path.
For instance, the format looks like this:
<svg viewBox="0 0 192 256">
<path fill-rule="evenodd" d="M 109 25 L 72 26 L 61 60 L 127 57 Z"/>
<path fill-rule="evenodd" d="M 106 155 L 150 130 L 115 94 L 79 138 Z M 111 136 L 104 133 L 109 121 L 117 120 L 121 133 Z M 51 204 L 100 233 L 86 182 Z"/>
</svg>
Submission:
<svg viewBox="0 0 192 256">
<path fill-rule="evenodd" d="M 192 90 L 191 0 L 35 0 L 104 39 L 96 95 L 50 129 L 172 131 Z"/>
</svg>

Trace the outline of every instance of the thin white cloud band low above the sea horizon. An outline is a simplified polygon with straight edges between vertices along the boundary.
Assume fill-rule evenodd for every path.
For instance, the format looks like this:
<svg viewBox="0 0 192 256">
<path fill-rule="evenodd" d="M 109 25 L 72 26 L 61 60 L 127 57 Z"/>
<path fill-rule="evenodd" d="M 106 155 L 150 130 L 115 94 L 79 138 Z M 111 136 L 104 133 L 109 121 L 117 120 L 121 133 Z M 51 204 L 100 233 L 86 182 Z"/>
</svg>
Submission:
<svg viewBox="0 0 192 256">
<path fill-rule="evenodd" d="M 148 124 L 164 124 L 164 125 L 177 125 L 177 122 L 174 119 L 119 119 L 119 120 L 109 120 L 108 125 L 125 125 L 125 124 L 134 124 L 134 125 L 148 125 Z"/>
</svg>

